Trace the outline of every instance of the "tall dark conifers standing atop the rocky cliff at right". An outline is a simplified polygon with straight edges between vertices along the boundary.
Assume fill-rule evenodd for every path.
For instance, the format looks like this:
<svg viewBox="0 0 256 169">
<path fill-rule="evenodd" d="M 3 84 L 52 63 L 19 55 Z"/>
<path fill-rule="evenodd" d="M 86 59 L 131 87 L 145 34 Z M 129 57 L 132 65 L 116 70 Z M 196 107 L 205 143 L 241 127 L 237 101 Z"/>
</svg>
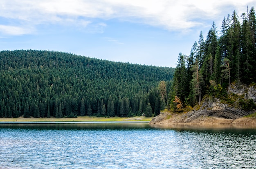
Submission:
<svg viewBox="0 0 256 169">
<path fill-rule="evenodd" d="M 189 56 L 182 53 L 173 77 L 170 100 L 173 108 L 200 104 L 205 94 L 227 96 L 227 87 L 256 82 L 255 9 L 239 19 L 236 11 L 224 17 L 220 31 L 212 24 L 206 40 L 199 36 Z"/>
</svg>

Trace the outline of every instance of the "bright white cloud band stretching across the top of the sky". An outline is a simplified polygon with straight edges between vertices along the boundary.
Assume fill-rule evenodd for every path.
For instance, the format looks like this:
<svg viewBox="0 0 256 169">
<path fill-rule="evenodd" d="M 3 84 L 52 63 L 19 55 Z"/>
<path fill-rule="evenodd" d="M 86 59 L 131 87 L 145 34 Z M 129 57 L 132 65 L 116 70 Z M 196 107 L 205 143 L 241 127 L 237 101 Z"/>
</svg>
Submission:
<svg viewBox="0 0 256 169">
<path fill-rule="evenodd" d="M 24 24 L 70 24 L 87 27 L 94 18 L 119 18 L 143 22 L 174 31 L 184 31 L 204 24 L 204 20 L 218 20 L 227 16 L 227 7 L 245 11 L 255 0 L 2 0 L 0 17 L 16 20 L 1 32 L 25 34 Z M 227 13 L 226 13 L 227 12 Z M 99 23 L 97 23 L 99 26 Z M 104 27 L 104 26 L 103 26 Z M 15 31 L 16 29 L 16 31 Z M 18 33 L 20 32 L 20 33 Z"/>
</svg>

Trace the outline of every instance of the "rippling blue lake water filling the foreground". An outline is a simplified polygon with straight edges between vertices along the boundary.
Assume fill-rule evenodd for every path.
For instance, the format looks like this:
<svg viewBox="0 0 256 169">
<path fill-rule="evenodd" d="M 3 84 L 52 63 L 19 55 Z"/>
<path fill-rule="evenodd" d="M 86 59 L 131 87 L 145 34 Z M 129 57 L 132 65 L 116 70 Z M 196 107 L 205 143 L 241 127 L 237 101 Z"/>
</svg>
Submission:
<svg viewBox="0 0 256 169">
<path fill-rule="evenodd" d="M 0 124 L 0 168 L 256 168 L 256 126 Z"/>
</svg>

